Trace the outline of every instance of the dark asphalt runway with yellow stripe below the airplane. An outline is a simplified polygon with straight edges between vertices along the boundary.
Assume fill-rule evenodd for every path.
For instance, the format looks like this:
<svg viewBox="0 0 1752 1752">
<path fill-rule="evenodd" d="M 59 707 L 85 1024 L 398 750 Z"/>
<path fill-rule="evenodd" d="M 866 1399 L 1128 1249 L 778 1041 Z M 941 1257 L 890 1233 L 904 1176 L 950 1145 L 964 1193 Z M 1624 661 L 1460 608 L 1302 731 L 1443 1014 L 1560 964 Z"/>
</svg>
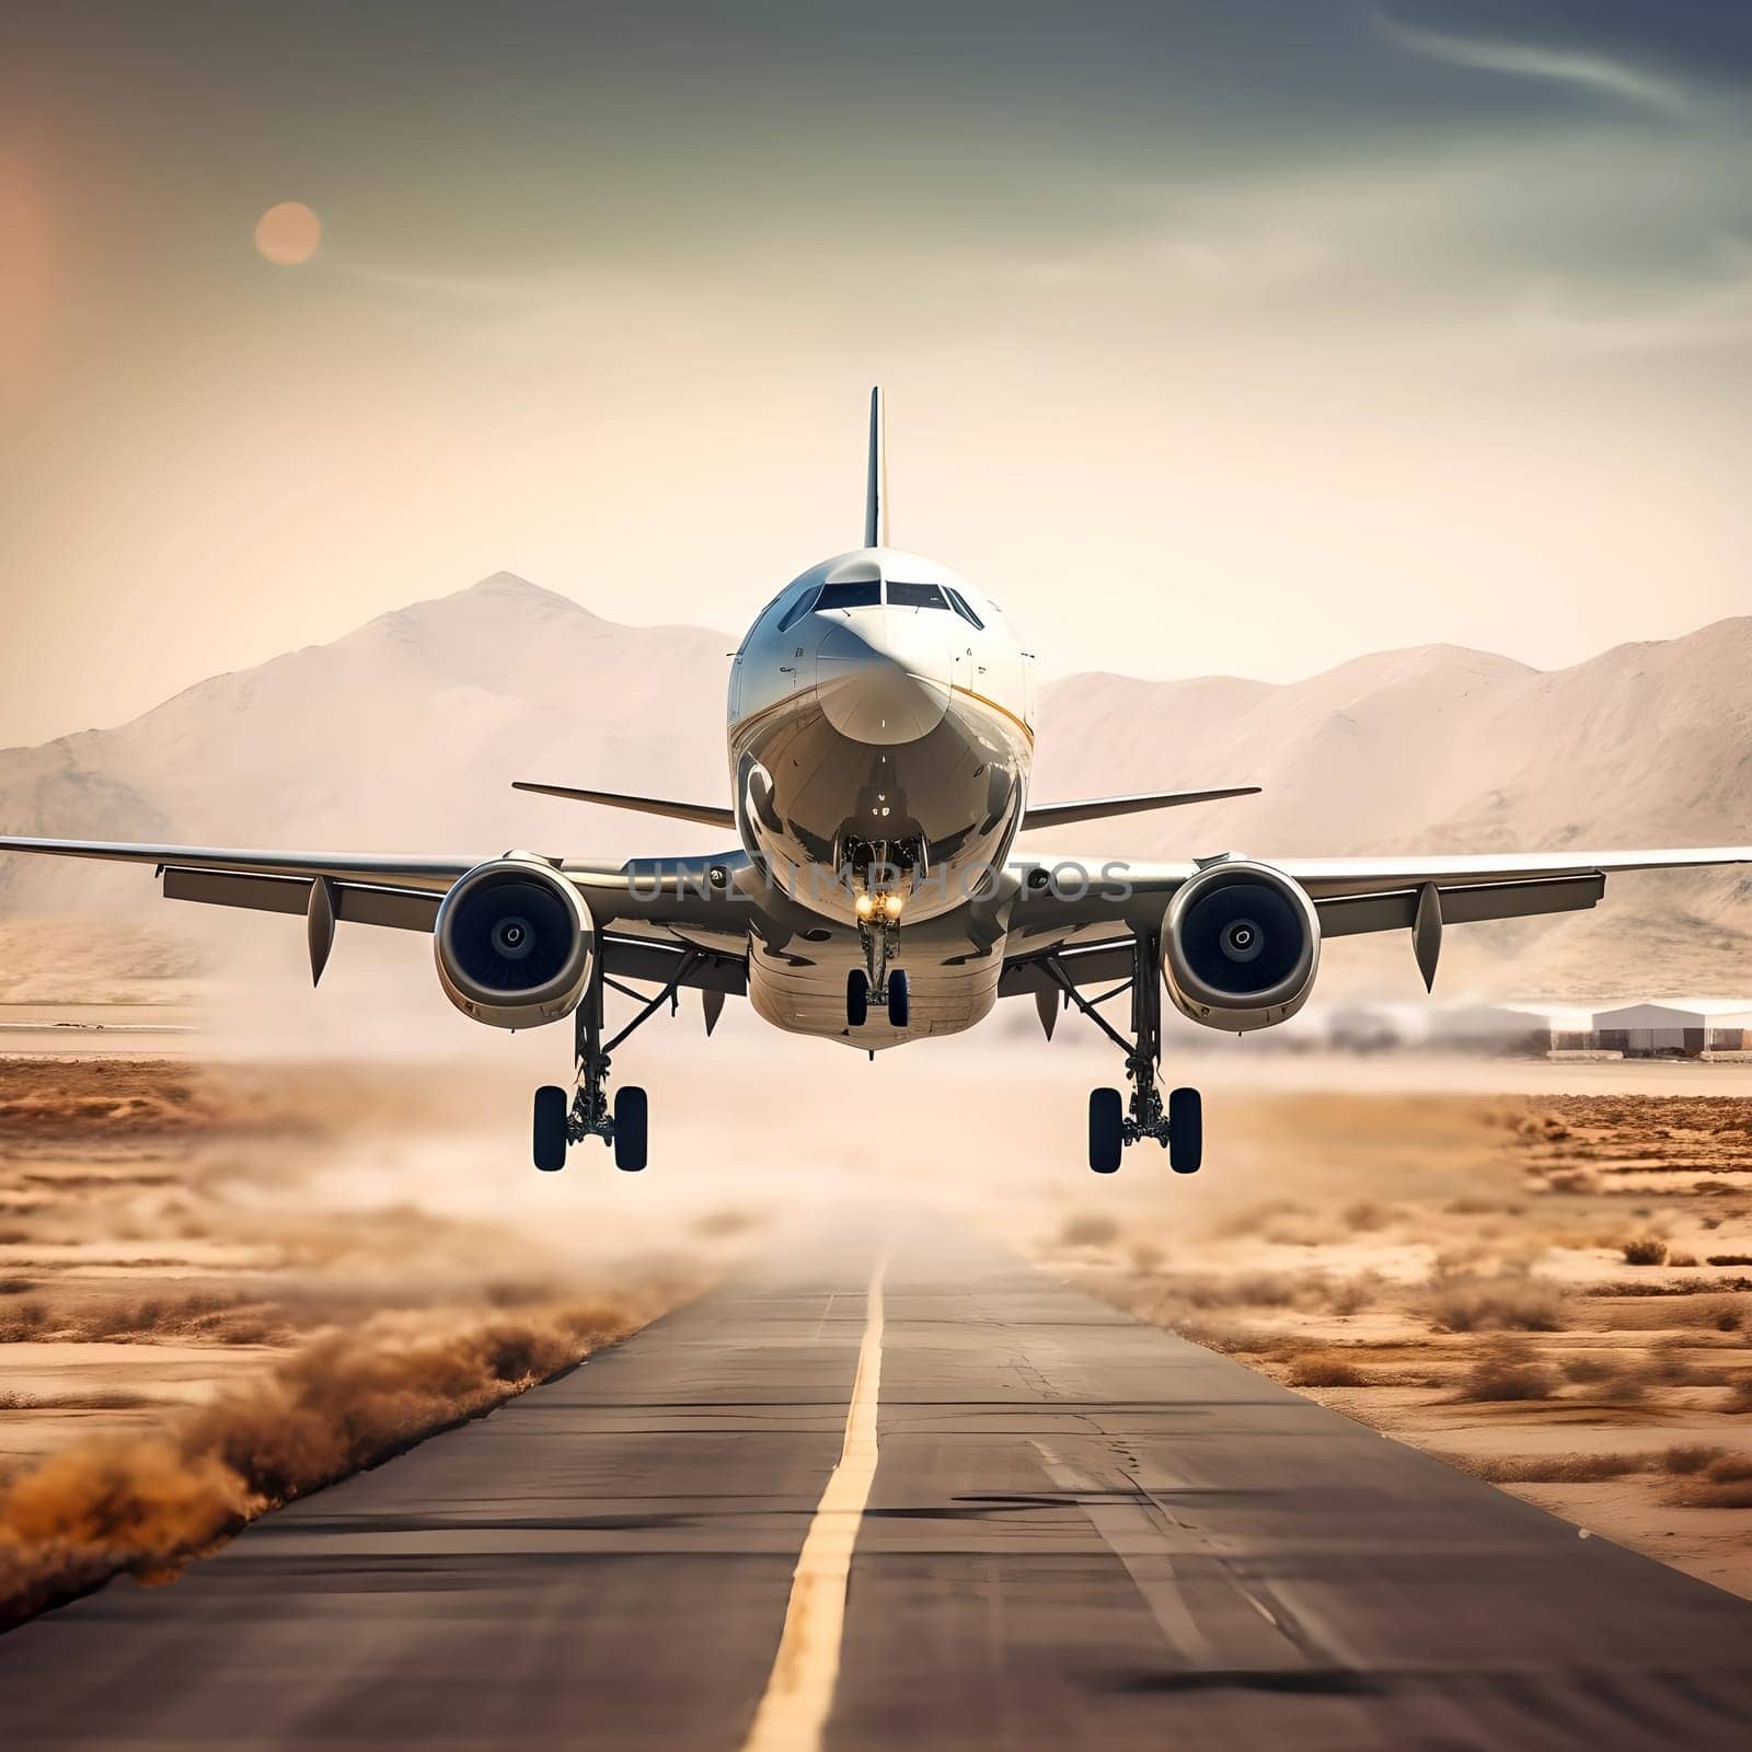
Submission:
<svg viewBox="0 0 1752 1752">
<path fill-rule="evenodd" d="M 804 1682 L 834 1752 L 1748 1741 L 1752 1605 L 964 1237 L 853 1228 L 0 1638 L 0 1740 L 736 1752 L 811 1743 Z"/>
</svg>

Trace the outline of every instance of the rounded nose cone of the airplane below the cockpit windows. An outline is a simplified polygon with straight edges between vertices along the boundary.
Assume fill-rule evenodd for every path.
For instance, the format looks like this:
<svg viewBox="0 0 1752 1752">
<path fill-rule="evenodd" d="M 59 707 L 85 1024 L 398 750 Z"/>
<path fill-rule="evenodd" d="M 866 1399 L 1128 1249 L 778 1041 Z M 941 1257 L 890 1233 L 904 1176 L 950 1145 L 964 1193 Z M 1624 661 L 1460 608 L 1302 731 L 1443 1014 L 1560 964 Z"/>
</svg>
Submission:
<svg viewBox="0 0 1752 1752">
<path fill-rule="evenodd" d="M 915 743 L 950 710 L 950 639 L 916 610 L 858 613 L 829 627 L 815 657 L 815 696 L 841 736 Z"/>
</svg>

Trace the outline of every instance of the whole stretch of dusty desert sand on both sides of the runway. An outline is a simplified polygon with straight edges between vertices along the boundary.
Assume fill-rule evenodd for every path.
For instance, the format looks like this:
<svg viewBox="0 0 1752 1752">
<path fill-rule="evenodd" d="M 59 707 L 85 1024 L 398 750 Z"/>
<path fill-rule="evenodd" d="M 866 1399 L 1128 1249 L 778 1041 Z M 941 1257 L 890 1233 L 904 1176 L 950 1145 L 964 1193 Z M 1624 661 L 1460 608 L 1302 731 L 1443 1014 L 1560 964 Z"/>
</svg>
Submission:
<svg viewBox="0 0 1752 1752">
<path fill-rule="evenodd" d="M 1747 1067 L 1212 1058 L 1205 1172 L 1134 1149 L 1097 1179 L 1081 1102 L 1113 1067 L 1076 1035 L 869 1065 L 736 1014 L 710 1046 L 697 1016 L 653 1027 L 622 1067 L 652 1086 L 643 1176 L 594 1146 L 527 1167 L 552 1030 L 336 1060 L 219 1037 L 208 1013 L 175 1056 L 0 1062 L 12 1610 L 117 1566 L 173 1575 L 823 1204 L 965 1223 L 1752 1594 Z"/>
</svg>

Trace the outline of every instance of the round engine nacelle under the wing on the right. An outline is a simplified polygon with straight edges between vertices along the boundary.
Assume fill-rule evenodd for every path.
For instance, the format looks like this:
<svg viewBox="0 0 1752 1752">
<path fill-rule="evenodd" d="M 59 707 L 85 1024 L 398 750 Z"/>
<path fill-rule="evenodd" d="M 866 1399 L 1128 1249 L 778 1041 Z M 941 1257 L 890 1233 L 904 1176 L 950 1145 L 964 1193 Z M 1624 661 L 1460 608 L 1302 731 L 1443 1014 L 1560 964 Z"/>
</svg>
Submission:
<svg viewBox="0 0 1752 1752">
<path fill-rule="evenodd" d="M 1223 858 L 1181 883 L 1162 922 L 1162 974 L 1176 1009 L 1242 1034 L 1288 1021 L 1314 990 L 1319 913 L 1270 864 Z"/>
</svg>

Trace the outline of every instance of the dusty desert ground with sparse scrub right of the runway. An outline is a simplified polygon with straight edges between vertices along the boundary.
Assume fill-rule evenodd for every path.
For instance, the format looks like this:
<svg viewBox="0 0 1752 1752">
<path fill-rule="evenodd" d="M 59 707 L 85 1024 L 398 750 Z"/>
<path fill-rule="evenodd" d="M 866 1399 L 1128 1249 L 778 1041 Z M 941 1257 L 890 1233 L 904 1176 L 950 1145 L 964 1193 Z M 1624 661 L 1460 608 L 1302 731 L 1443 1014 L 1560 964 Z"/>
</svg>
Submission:
<svg viewBox="0 0 1752 1752">
<path fill-rule="evenodd" d="M 1216 1116 L 1207 1197 L 1132 1151 L 1027 1249 L 1752 1596 L 1752 1099 L 1281 1091 Z"/>
</svg>

